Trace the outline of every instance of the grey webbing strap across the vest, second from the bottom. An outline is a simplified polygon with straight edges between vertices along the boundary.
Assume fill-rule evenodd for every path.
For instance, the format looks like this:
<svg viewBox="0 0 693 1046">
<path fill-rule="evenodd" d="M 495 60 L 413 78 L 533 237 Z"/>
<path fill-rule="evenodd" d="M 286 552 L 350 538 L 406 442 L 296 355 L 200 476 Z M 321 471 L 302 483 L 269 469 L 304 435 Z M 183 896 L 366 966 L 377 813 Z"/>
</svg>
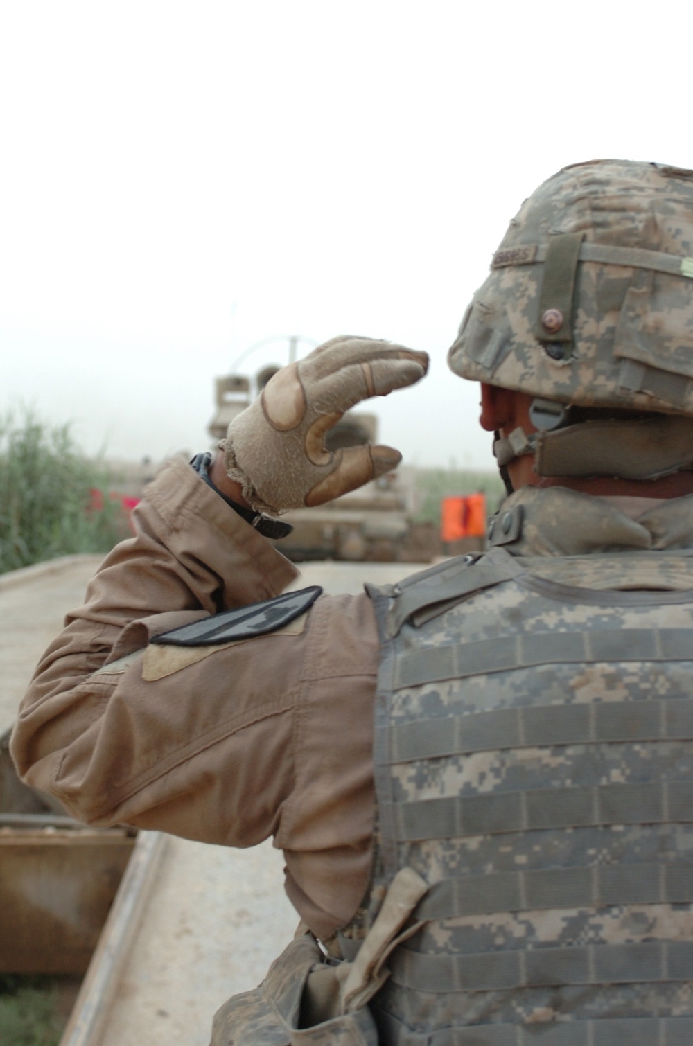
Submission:
<svg viewBox="0 0 693 1046">
<path fill-rule="evenodd" d="M 693 943 L 574 945 L 467 955 L 426 955 L 402 947 L 389 969 L 396 984 L 435 994 L 690 981 Z"/>
</svg>

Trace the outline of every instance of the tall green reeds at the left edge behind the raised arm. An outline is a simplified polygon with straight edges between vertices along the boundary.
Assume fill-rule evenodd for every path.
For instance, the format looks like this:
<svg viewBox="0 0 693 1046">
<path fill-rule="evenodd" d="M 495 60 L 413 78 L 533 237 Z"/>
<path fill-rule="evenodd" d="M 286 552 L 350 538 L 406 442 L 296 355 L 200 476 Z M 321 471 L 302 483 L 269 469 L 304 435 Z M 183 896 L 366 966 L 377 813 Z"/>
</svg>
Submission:
<svg viewBox="0 0 693 1046">
<path fill-rule="evenodd" d="M 108 551 L 124 537 L 107 470 L 86 458 L 69 425 L 32 412 L 0 418 L 0 573 L 73 552 Z"/>
</svg>

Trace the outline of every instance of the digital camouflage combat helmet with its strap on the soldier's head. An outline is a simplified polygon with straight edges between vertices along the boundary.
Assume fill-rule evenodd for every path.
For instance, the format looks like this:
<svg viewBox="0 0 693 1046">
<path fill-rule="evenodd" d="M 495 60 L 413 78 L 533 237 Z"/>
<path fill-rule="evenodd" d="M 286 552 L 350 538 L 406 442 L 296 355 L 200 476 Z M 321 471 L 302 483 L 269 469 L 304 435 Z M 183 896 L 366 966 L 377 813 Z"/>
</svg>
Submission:
<svg viewBox="0 0 693 1046">
<path fill-rule="evenodd" d="M 693 459 L 693 172 L 598 160 L 545 181 L 511 222 L 448 362 L 463 378 L 534 395 L 540 430 L 564 427 L 564 405 L 660 415 L 631 423 L 605 468 L 587 452 L 567 473 L 555 471 L 562 460 L 542 475 L 623 474 L 613 465 L 634 456 L 633 440 L 673 438 L 677 450 L 632 478 L 691 467 L 680 458 L 686 444 Z M 600 424 L 608 423 L 579 427 L 581 444 L 596 437 L 595 451 L 606 434 L 586 426 Z M 523 435 L 500 456 L 536 453 Z M 561 439 L 571 441 L 564 428 Z M 546 458 L 543 435 L 539 444 Z"/>
</svg>

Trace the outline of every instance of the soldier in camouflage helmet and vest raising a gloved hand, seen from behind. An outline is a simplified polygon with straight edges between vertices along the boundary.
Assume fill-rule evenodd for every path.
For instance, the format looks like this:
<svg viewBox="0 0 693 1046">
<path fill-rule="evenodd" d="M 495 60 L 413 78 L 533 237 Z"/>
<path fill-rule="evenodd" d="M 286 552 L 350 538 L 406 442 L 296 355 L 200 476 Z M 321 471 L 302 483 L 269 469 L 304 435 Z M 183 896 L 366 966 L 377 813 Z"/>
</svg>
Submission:
<svg viewBox="0 0 693 1046">
<path fill-rule="evenodd" d="M 276 598 L 261 513 L 390 468 L 322 435 L 426 366 L 338 339 L 157 478 L 45 655 L 28 782 L 285 851 L 301 933 L 213 1043 L 693 1041 L 692 255 L 692 172 L 526 201 L 449 354 L 510 494 L 486 554 Z"/>
</svg>

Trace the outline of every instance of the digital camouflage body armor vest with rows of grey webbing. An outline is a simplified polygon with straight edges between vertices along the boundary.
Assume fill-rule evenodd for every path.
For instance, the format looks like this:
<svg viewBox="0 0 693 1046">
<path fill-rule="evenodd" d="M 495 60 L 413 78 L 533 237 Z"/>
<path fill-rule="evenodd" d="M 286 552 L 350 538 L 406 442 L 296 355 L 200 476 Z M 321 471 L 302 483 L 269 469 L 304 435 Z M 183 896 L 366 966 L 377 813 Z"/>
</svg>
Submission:
<svg viewBox="0 0 693 1046">
<path fill-rule="evenodd" d="M 345 950 L 398 869 L 428 884 L 380 1040 L 690 1046 L 693 591 L 470 560 L 370 589 L 378 828 Z"/>
</svg>

